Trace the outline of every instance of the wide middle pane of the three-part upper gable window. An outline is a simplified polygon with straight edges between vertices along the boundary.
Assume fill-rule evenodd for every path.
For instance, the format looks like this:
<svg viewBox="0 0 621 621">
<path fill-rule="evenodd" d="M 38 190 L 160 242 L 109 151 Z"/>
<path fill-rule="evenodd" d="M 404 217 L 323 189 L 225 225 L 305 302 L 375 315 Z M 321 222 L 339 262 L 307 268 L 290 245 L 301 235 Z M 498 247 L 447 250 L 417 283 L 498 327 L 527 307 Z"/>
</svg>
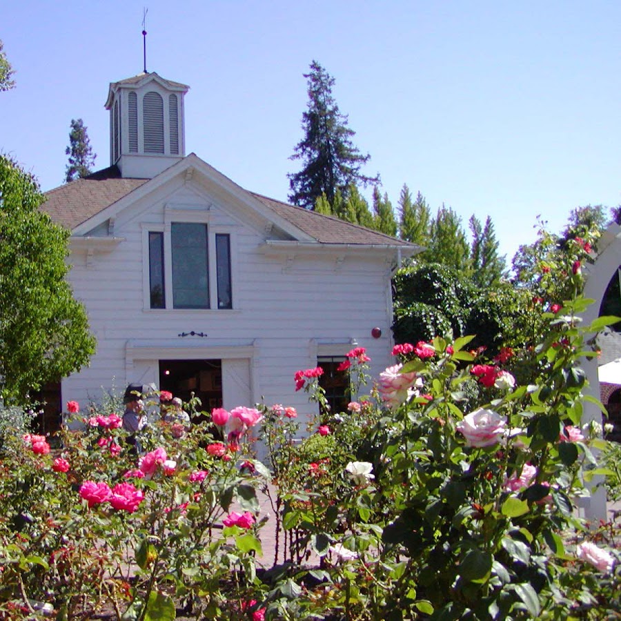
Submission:
<svg viewBox="0 0 621 621">
<path fill-rule="evenodd" d="M 170 242 L 173 308 L 209 308 L 207 225 L 173 222 Z"/>
</svg>

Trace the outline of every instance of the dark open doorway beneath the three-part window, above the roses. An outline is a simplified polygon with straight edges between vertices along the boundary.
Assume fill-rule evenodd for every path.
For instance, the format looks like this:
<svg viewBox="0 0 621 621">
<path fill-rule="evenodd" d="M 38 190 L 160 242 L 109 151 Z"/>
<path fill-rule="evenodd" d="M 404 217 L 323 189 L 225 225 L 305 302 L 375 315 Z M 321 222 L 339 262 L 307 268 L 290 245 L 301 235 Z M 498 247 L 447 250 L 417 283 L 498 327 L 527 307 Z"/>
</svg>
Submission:
<svg viewBox="0 0 621 621">
<path fill-rule="evenodd" d="M 160 360 L 159 389 L 184 402 L 192 396 L 201 400 L 199 411 L 211 413 L 222 407 L 222 364 L 220 360 Z"/>
</svg>

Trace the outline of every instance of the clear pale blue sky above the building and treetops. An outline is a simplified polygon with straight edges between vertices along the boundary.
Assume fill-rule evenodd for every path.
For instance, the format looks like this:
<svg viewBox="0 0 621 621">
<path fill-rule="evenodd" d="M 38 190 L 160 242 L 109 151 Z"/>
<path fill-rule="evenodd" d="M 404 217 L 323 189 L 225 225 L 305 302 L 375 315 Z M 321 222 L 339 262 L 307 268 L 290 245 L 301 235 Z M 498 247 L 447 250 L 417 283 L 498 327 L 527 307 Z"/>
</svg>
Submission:
<svg viewBox="0 0 621 621">
<path fill-rule="evenodd" d="M 396 205 L 404 183 L 467 226 L 491 215 L 508 259 L 572 208 L 621 203 L 621 2 L 6 1 L 0 150 L 60 185 L 82 118 L 109 165 L 111 81 L 147 69 L 190 85 L 186 152 L 286 199 L 313 59 Z"/>
</svg>

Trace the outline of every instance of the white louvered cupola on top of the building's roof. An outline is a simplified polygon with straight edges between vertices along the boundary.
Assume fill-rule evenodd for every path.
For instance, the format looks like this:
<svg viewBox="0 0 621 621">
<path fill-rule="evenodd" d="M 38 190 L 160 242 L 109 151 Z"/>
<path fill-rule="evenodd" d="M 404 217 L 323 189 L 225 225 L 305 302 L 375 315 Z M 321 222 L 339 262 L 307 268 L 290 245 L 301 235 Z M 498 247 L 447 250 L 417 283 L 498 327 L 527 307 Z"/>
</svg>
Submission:
<svg viewBox="0 0 621 621">
<path fill-rule="evenodd" d="M 155 72 L 110 83 L 110 164 L 119 167 L 121 177 L 152 179 L 186 155 L 189 88 Z"/>
</svg>

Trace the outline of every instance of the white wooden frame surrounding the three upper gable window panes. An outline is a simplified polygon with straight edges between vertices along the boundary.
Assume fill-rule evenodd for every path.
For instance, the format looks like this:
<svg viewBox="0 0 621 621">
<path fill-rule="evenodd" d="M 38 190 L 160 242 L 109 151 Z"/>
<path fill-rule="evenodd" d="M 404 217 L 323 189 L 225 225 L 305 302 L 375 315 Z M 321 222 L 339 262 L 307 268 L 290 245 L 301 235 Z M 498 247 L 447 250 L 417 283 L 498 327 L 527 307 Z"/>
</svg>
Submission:
<svg viewBox="0 0 621 621">
<path fill-rule="evenodd" d="M 171 207 L 164 208 L 164 223 L 143 223 L 142 228 L 142 256 L 143 256 L 143 300 L 144 310 L 150 313 L 226 313 L 235 311 L 237 305 L 237 238 L 233 226 L 210 224 L 210 213 L 206 206 Z M 172 242 L 170 230 L 173 222 L 181 224 L 207 225 L 207 252 L 209 268 L 209 308 L 173 308 L 172 306 Z M 164 304 L 165 308 L 151 308 L 150 299 L 150 260 L 149 260 L 149 233 L 164 233 Z M 230 287 L 232 308 L 218 308 L 218 278 L 216 264 L 216 235 L 229 236 L 230 252 Z"/>
</svg>

